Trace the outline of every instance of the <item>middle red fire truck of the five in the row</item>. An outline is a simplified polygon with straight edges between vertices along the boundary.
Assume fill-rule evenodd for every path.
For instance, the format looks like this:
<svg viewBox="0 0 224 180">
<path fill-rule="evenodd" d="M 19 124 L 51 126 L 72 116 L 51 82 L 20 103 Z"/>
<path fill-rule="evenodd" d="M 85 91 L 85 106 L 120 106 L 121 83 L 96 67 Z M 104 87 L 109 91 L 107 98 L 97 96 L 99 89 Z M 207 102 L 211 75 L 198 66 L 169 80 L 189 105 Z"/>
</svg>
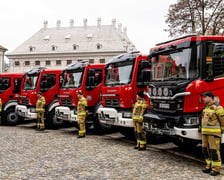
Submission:
<svg viewBox="0 0 224 180">
<path fill-rule="evenodd" d="M 104 82 L 104 64 L 78 62 L 69 65 L 62 72 L 63 83 L 59 90 L 60 106 L 55 109 L 57 119 L 75 122 L 77 127 L 77 92 L 82 91 L 87 99 L 88 115 L 86 127 L 92 124 L 99 129 L 96 110 L 100 105 L 100 91 Z"/>
</svg>

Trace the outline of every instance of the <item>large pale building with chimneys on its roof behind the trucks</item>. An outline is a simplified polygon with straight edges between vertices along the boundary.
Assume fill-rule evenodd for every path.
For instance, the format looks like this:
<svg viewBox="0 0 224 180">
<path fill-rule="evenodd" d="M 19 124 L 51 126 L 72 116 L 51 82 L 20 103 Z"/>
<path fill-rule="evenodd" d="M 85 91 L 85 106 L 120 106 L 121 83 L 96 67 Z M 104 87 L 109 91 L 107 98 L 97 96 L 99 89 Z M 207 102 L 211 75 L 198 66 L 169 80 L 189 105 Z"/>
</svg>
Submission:
<svg viewBox="0 0 224 180">
<path fill-rule="evenodd" d="M 71 63 L 88 61 L 106 63 L 113 56 L 135 51 L 135 46 L 127 36 L 127 28 L 116 27 L 116 20 L 111 25 L 88 26 L 87 19 L 83 26 L 61 27 L 58 20 L 55 28 L 48 28 L 48 22 L 31 38 L 14 51 L 6 54 L 10 63 L 10 72 L 24 72 L 34 67 L 63 69 Z"/>
</svg>

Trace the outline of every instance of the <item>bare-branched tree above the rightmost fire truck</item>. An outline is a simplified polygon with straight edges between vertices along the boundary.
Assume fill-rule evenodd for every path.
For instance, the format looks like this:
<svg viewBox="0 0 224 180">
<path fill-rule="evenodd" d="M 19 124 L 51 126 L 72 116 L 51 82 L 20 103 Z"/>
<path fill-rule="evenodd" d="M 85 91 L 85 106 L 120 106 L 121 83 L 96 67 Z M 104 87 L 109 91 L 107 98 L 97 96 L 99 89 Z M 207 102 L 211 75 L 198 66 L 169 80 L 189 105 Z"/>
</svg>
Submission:
<svg viewBox="0 0 224 180">
<path fill-rule="evenodd" d="M 170 36 L 217 35 L 224 30 L 224 0 L 177 0 L 166 16 Z"/>
</svg>

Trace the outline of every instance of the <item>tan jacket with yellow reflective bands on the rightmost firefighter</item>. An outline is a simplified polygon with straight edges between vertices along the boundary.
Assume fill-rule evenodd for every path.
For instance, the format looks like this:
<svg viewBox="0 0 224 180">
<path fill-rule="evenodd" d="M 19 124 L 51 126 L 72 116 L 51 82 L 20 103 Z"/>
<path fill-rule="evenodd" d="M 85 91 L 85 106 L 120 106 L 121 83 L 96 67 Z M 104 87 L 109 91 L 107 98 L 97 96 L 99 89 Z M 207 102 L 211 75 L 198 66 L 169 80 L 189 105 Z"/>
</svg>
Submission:
<svg viewBox="0 0 224 180">
<path fill-rule="evenodd" d="M 214 103 L 208 104 L 202 111 L 201 133 L 221 137 L 224 132 L 224 109 Z"/>
</svg>

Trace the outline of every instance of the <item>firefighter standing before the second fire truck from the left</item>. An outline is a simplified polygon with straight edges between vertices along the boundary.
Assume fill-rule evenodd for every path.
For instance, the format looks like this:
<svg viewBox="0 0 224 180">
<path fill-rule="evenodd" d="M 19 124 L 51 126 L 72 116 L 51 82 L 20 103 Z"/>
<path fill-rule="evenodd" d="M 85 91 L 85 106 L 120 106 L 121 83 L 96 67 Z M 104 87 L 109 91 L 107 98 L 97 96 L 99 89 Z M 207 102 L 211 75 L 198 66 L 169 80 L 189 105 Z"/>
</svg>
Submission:
<svg viewBox="0 0 224 180">
<path fill-rule="evenodd" d="M 37 130 L 43 131 L 45 128 L 44 125 L 44 106 L 45 98 L 41 95 L 41 92 L 37 93 L 37 102 L 36 102 L 36 112 L 37 112 Z"/>
</svg>

